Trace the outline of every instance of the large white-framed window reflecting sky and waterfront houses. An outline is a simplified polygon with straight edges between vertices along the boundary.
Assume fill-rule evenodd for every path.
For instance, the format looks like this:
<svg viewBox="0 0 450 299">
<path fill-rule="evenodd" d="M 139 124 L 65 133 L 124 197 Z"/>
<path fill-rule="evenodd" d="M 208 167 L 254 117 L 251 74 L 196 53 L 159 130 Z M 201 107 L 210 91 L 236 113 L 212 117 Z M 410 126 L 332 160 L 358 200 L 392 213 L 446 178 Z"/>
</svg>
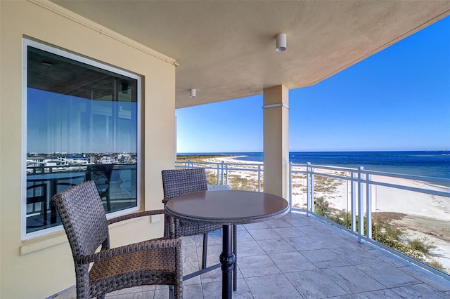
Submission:
<svg viewBox="0 0 450 299">
<path fill-rule="evenodd" d="M 25 237 L 60 225 L 51 197 L 86 180 L 96 182 L 106 213 L 138 209 L 141 78 L 24 45 Z"/>
</svg>

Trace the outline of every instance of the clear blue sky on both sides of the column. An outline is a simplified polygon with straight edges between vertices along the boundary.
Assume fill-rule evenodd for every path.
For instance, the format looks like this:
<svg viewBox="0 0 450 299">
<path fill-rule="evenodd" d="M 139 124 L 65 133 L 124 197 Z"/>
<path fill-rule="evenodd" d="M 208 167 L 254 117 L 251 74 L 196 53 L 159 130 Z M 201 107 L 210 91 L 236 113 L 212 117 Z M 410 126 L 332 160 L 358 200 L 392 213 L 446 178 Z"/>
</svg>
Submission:
<svg viewBox="0 0 450 299">
<path fill-rule="evenodd" d="M 262 152 L 263 98 L 176 110 L 177 152 Z M 289 91 L 290 151 L 450 150 L 450 17 Z"/>
</svg>

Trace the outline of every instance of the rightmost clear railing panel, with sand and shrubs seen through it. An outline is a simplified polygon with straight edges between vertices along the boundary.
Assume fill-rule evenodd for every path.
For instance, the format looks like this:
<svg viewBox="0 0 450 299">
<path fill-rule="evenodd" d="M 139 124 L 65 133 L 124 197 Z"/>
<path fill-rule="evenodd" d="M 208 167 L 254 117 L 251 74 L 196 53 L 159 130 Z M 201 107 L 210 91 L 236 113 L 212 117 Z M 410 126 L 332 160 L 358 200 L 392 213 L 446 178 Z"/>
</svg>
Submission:
<svg viewBox="0 0 450 299">
<path fill-rule="evenodd" d="M 403 178 L 382 180 L 406 187 L 446 189 Z M 372 190 L 372 238 L 449 274 L 449 197 L 379 185 Z"/>
</svg>

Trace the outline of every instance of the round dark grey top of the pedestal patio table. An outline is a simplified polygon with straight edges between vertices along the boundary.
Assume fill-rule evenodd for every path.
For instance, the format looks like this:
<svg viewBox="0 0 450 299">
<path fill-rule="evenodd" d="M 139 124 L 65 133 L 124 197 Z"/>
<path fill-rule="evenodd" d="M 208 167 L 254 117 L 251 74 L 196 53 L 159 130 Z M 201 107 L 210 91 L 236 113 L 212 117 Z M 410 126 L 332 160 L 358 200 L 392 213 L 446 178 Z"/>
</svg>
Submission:
<svg viewBox="0 0 450 299">
<path fill-rule="evenodd" d="M 288 201 L 283 197 L 242 190 L 193 192 L 166 204 L 166 213 L 175 218 L 222 225 L 259 222 L 288 211 Z"/>
</svg>

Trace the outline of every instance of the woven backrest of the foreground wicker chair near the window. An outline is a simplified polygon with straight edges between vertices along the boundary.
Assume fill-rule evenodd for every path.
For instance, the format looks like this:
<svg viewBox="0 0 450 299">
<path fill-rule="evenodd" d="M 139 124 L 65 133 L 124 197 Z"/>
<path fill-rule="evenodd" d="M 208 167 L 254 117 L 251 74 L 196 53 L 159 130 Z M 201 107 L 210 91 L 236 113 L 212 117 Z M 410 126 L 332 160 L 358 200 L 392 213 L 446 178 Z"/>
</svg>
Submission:
<svg viewBox="0 0 450 299">
<path fill-rule="evenodd" d="M 53 197 L 74 258 L 109 248 L 108 222 L 96 185 L 83 182 Z"/>
</svg>

